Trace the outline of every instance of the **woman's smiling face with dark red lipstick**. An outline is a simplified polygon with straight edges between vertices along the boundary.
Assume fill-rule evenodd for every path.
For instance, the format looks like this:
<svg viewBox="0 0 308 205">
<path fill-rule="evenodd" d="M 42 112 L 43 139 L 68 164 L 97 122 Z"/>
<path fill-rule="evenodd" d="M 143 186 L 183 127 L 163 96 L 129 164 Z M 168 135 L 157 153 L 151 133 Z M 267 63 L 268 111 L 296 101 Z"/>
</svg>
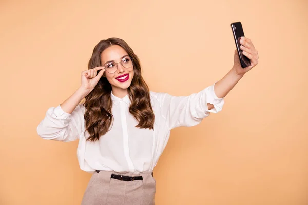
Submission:
<svg viewBox="0 0 308 205">
<path fill-rule="evenodd" d="M 124 90 L 127 91 L 127 88 L 130 86 L 133 78 L 133 65 L 129 68 L 125 68 L 120 63 L 122 60 L 123 62 L 126 62 L 131 59 L 124 48 L 119 45 L 112 45 L 101 53 L 102 66 L 105 66 L 105 64 L 108 63 L 108 67 L 112 68 L 118 63 L 118 69 L 115 73 L 108 73 L 107 71 L 104 72 L 104 76 L 111 84 L 112 93 L 119 91 L 123 92 Z M 113 61 L 113 63 L 109 61 Z"/>
</svg>

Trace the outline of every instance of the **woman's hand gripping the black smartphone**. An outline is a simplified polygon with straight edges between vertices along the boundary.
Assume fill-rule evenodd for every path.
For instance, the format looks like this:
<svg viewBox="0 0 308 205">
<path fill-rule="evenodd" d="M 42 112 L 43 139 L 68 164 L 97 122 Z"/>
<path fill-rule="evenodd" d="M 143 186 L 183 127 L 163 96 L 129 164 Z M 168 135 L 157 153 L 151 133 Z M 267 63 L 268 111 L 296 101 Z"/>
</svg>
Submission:
<svg viewBox="0 0 308 205">
<path fill-rule="evenodd" d="M 259 54 L 255 46 L 253 45 L 251 39 L 242 36 L 240 39 L 240 44 L 240 49 L 243 51 L 243 55 L 249 58 L 249 60 L 251 61 L 251 65 L 247 66 L 246 68 L 242 68 L 238 52 L 237 50 L 235 50 L 233 69 L 235 69 L 238 75 L 244 75 L 246 72 L 248 72 L 258 64 Z"/>
</svg>

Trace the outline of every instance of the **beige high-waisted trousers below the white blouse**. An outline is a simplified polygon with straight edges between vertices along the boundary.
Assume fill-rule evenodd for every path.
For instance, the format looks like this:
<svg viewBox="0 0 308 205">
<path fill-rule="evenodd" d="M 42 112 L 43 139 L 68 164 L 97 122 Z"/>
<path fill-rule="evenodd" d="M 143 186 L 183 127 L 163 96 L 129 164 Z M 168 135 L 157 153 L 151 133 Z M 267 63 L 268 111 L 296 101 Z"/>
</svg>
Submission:
<svg viewBox="0 0 308 205">
<path fill-rule="evenodd" d="M 120 181 L 111 178 L 111 174 L 142 176 L 143 180 Z M 94 172 L 86 191 L 82 205 L 155 205 L 156 180 L 150 173 L 124 174 L 114 171 Z"/>
</svg>

